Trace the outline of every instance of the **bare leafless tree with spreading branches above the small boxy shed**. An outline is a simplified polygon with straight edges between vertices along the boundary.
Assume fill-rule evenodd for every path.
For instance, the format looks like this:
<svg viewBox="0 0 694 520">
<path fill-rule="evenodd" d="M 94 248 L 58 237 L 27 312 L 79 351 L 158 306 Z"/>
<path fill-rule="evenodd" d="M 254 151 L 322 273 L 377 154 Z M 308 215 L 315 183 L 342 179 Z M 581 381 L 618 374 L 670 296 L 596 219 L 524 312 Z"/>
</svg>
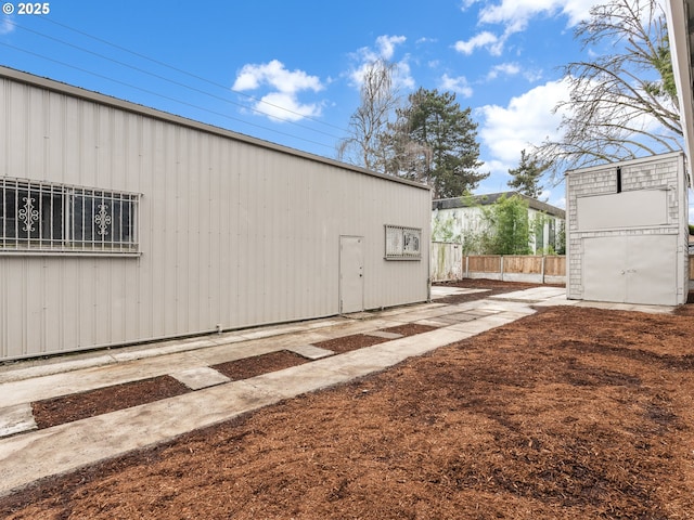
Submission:
<svg viewBox="0 0 694 520">
<path fill-rule="evenodd" d="M 656 0 L 611 0 L 578 26 L 584 50 L 614 52 L 564 67 L 570 94 L 555 107 L 563 135 L 535 154 L 555 180 L 570 168 L 681 150 L 665 20 Z"/>
</svg>

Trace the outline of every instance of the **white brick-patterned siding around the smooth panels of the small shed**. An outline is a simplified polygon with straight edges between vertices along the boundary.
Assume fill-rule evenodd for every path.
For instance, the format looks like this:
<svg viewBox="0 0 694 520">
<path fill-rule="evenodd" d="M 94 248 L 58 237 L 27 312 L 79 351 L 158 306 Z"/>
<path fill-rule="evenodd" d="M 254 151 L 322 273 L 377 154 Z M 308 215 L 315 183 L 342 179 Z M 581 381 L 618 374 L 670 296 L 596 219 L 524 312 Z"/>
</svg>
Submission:
<svg viewBox="0 0 694 520">
<path fill-rule="evenodd" d="M 628 229 L 628 230 L 601 230 L 591 232 L 578 231 L 577 199 L 578 197 L 605 195 L 617 193 L 617 167 L 618 164 L 605 165 L 604 168 L 590 168 L 574 170 L 567 173 L 567 246 L 568 264 L 566 292 L 570 299 L 582 299 L 582 240 L 599 236 L 625 236 L 645 234 L 677 234 L 686 222 L 680 222 L 681 209 L 678 186 L 682 180 L 679 165 L 679 154 L 653 157 L 635 164 L 625 162 L 621 166 L 621 191 L 647 190 L 670 187 L 668 191 L 668 224 L 658 227 Z M 686 234 L 684 234 L 684 247 L 686 247 Z M 686 249 L 684 249 L 686 250 Z M 686 266 L 684 268 L 686 269 Z M 684 280 L 689 278 L 686 273 Z"/>
</svg>

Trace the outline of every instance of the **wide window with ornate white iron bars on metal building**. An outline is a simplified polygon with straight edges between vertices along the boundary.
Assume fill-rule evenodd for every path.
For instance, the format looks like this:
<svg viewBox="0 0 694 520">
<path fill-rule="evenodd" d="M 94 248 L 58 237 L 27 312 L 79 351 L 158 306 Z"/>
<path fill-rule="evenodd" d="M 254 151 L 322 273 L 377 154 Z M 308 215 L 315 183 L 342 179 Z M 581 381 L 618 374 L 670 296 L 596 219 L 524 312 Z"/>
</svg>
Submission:
<svg viewBox="0 0 694 520">
<path fill-rule="evenodd" d="M 0 251 L 138 251 L 137 194 L 3 178 Z"/>
</svg>

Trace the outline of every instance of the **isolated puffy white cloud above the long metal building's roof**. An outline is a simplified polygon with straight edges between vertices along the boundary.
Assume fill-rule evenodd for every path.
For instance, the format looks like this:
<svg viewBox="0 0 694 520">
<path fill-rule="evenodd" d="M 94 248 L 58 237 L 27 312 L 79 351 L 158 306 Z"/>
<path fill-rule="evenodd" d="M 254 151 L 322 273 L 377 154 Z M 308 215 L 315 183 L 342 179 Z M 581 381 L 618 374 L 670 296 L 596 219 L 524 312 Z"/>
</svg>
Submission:
<svg viewBox="0 0 694 520">
<path fill-rule="evenodd" d="M 298 94 L 309 90 L 319 92 L 323 84 L 317 76 L 304 70 L 287 70 L 278 60 L 265 64 L 247 64 L 236 75 L 232 90 L 252 91 L 266 88 L 270 90 L 258 100 L 254 109 L 274 120 L 297 121 L 308 116 L 318 116 L 320 104 L 305 104 L 298 101 Z"/>
</svg>

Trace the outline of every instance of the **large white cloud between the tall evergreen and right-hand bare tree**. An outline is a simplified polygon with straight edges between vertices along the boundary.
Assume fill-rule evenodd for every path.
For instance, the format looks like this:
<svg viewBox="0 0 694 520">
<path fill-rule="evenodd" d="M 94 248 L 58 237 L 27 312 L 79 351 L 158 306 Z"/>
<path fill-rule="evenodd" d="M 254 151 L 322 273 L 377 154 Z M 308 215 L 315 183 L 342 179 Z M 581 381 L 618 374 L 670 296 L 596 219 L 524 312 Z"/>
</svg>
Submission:
<svg viewBox="0 0 694 520">
<path fill-rule="evenodd" d="M 515 168 L 522 150 L 539 145 L 548 138 L 557 136 L 561 114 L 552 114 L 556 104 L 568 99 L 563 81 L 550 81 L 512 98 L 509 105 L 486 105 L 479 108 L 481 119 L 479 136 L 491 157 L 503 165 L 499 171 Z"/>
</svg>

